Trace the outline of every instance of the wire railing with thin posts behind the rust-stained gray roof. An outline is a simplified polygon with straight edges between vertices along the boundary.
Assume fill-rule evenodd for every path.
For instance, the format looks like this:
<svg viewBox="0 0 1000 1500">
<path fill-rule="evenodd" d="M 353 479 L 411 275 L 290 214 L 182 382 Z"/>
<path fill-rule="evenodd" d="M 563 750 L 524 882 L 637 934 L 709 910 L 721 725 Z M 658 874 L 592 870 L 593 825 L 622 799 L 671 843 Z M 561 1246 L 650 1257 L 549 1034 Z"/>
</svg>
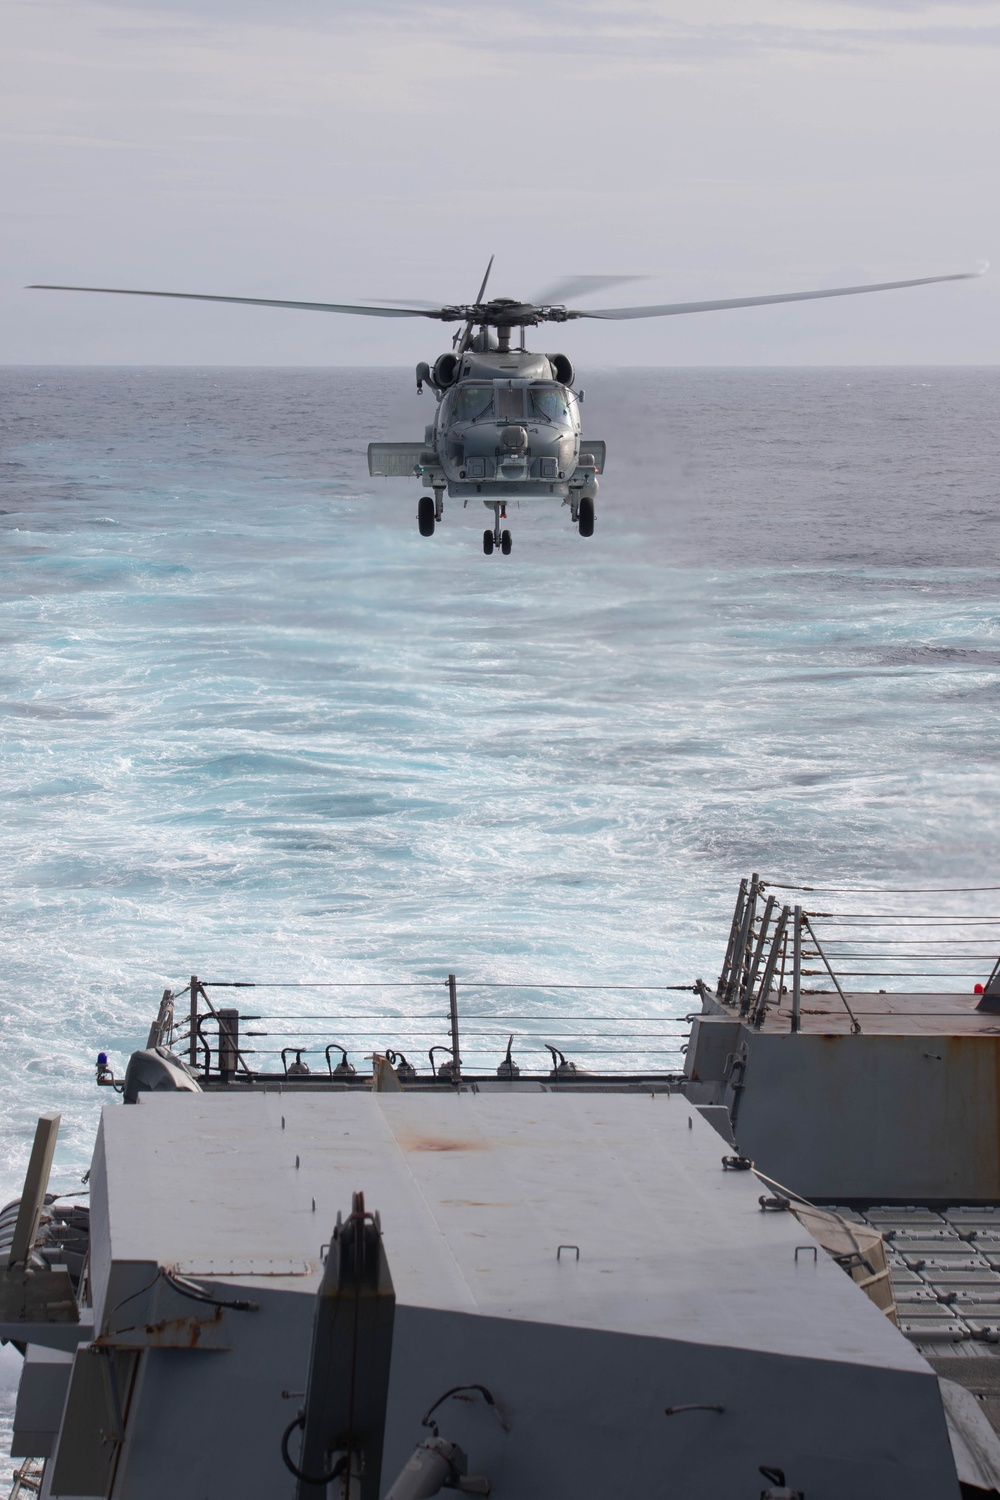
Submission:
<svg viewBox="0 0 1000 1500">
<path fill-rule="evenodd" d="M 256 1005 L 252 1012 L 241 1011 L 222 1004 L 223 993 L 235 988 L 255 990 L 255 1002 L 259 992 L 294 990 L 298 1004 L 294 1011 Z M 325 990 L 336 993 L 336 1008 L 319 1010 Z M 379 992 L 376 1008 L 367 1002 L 372 990 Z M 402 1077 L 444 1082 L 463 1074 L 670 1074 L 684 1062 L 690 1002 L 670 1004 L 666 992 L 693 990 L 690 984 L 535 981 L 469 981 L 459 987 L 454 974 L 390 984 L 192 976 L 186 993 L 165 993 L 150 1044 L 180 1053 L 202 1077 L 223 1080 L 346 1080 L 370 1076 L 378 1058 L 387 1058 Z M 642 1012 L 609 1005 L 624 992 L 643 998 Z M 391 1004 L 385 1004 L 387 993 Z"/>
</svg>

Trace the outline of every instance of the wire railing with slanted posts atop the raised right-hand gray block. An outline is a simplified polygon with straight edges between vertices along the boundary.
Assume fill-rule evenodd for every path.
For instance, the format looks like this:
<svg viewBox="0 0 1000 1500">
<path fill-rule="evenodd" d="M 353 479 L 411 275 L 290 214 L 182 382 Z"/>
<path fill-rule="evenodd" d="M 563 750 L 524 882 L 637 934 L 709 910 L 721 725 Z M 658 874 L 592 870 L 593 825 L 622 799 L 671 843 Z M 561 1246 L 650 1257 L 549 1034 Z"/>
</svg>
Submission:
<svg viewBox="0 0 1000 1500">
<path fill-rule="evenodd" d="M 793 900 L 783 900 L 778 891 L 792 892 Z M 996 891 L 1000 886 L 975 888 L 976 894 Z M 807 906 L 807 894 L 820 900 Z M 850 993 L 949 993 L 975 987 L 1000 1000 L 1000 916 L 948 910 L 951 898 L 970 894 L 973 888 L 817 890 L 763 880 L 754 872 L 739 884 L 715 998 L 748 1024 L 762 1026 L 769 1006 L 790 992 L 792 1030 L 799 1030 L 802 994 L 832 988 L 855 1032 L 861 1022 Z M 880 904 L 913 896 L 931 900 L 921 900 L 921 910 L 900 900 L 897 910 L 877 910 L 865 909 L 859 896 L 879 896 Z M 946 897 L 939 902 L 942 909 L 924 909 L 939 897 Z M 820 982 L 808 982 L 814 980 Z M 862 984 L 852 982 L 858 980 Z M 883 980 L 888 982 L 880 984 Z"/>
</svg>

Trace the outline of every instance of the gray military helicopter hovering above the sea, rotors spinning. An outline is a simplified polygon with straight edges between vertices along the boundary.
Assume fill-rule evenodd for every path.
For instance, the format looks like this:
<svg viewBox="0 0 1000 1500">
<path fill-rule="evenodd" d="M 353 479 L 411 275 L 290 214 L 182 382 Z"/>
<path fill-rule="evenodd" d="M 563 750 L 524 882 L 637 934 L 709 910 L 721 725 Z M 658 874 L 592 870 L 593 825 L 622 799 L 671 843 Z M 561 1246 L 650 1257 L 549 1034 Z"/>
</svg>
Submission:
<svg viewBox="0 0 1000 1500">
<path fill-rule="evenodd" d="M 949 276 L 919 276 L 913 280 L 874 282 L 867 286 L 834 286 L 822 291 L 789 291 L 768 297 L 724 297 L 718 302 L 672 302 L 651 308 L 567 308 L 559 298 L 595 292 L 636 276 L 574 276 L 550 286 L 535 302 L 493 297 L 484 302 L 493 256 L 472 303 L 351 306 L 336 302 L 285 302 L 274 297 L 222 297 L 189 291 L 133 291 L 124 286 L 34 285 L 30 291 L 96 291 L 123 297 L 177 297 L 186 302 L 232 302 L 255 308 L 300 308 L 306 312 L 346 312 L 366 318 L 433 318 L 457 322 L 451 350 L 433 366 L 417 366 L 417 392 L 424 386 L 438 398 L 433 423 L 423 442 L 370 442 L 369 472 L 393 478 L 421 480 L 429 490 L 417 502 L 421 537 L 432 537 L 444 514 L 445 490 L 468 506 L 481 498 L 493 512 L 493 525 L 483 532 L 483 550 L 510 555 L 511 534 L 504 525 L 507 507 L 516 500 L 558 498 L 582 537 L 594 536 L 594 504 L 598 474 L 604 472 L 606 444 L 585 438 L 580 422 L 583 392 L 574 392 L 576 372 L 565 354 L 532 354 L 525 332 L 541 322 L 573 322 L 577 318 L 625 320 L 670 318 L 687 312 L 724 312 L 730 308 L 763 308 L 780 302 L 816 302 L 822 297 L 855 297 L 868 291 L 898 291 L 933 282 L 969 280 L 975 272 Z M 376 300 L 376 298 L 373 298 Z M 514 332 L 519 342 L 514 344 Z"/>
</svg>

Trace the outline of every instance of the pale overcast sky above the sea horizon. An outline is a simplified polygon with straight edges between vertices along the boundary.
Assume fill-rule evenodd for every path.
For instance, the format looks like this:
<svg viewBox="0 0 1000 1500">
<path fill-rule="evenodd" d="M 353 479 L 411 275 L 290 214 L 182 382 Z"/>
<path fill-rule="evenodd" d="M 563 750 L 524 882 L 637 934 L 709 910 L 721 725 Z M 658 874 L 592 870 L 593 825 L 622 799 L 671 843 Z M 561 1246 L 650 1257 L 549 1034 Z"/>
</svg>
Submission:
<svg viewBox="0 0 1000 1500">
<path fill-rule="evenodd" d="M 1000 362 L 1000 0 L 0 0 L 6 363 L 396 364 L 439 324 L 24 291 L 591 304 L 586 364 Z M 583 303 L 586 304 L 586 303 Z"/>
</svg>

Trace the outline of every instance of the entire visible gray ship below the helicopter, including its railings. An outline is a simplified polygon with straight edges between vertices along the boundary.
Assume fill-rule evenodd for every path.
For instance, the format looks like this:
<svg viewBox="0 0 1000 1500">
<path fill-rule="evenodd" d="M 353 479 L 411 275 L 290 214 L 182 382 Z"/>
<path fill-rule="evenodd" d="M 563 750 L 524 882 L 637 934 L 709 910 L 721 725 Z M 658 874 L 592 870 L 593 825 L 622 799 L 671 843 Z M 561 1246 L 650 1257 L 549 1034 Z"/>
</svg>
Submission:
<svg viewBox="0 0 1000 1500">
<path fill-rule="evenodd" d="M 358 1030 L 342 1008 L 337 1040 L 313 1018 L 283 1047 L 219 987 L 166 992 L 124 1077 L 99 1060 L 123 1106 L 102 1113 L 85 1266 L 78 1226 L 58 1258 L 57 1120 L 0 1216 L 0 1239 L 21 1224 L 0 1336 L 25 1354 L 27 1482 L 1000 1494 L 996 974 L 969 996 L 847 990 L 846 950 L 813 927 L 744 882 L 715 990 L 687 987 L 682 1071 L 636 1066 L 676 1054 L 666 1020 L 622 1023 L 631 1066 L 592 1011 L 576 1042 L 568 1018 L 544 1040 L 552 1014 L 498 1042 L 502 1014 L 463 1022 L 453 975 L 436 1012 Z M 409 1058 L 367 1040 L 432 1014 L 430 1070 L 409 1040 Z"/>
</svg>

